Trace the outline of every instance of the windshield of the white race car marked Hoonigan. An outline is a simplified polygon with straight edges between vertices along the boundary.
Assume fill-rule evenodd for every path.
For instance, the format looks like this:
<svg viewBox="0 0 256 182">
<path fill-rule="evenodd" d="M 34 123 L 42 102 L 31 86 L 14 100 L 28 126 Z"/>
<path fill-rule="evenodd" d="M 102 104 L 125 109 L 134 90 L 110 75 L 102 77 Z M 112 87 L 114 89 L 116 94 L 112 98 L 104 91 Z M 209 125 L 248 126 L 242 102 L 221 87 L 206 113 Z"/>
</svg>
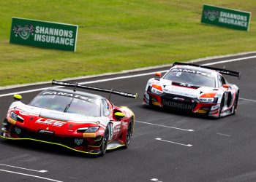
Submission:
<svg viewBox="0 0 256 182">
<path fill-rule="evenodd" d="M 163 79 L 173 82 L 181 82 L 201 87 L 215 87 L 214 76 L 204 76 L 202 74 L 194 74 L 188 72 L 169 71 Z"/>
</svg>

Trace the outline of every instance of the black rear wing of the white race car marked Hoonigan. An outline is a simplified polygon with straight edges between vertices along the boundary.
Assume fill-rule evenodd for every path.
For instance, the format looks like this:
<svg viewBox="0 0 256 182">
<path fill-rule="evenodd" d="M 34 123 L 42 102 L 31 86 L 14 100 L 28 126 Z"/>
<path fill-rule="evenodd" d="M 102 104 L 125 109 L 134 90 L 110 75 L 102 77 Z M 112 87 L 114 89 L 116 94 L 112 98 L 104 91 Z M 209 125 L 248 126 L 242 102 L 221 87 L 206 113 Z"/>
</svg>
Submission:
<svg viewBox="0 0 256 182">
<path fill-rule="evenodd" d="M 240 72 L 230 71 L 230 70 L 225 69 L 225 67 L 222 69 L 222 68 L 213 68 L 213 67 L 210 67 L 210 66 L 201 66 L 201 65 L 194 64 L 194 63 L 180 63 L 180 62 L 173 63 L 173 66 L 176 66 L 176 65 L 195 66 L 195 67 L 200 67 L 200 68 L 207 68 L 207 69 L 218 71 L 220 74 L 227 74 L 227 75 L 230 75 L 230 76 L 236 76 L 236 77 L 238 77 L 238 79 L 241 78 L 241 73 Z"/>
</svg>

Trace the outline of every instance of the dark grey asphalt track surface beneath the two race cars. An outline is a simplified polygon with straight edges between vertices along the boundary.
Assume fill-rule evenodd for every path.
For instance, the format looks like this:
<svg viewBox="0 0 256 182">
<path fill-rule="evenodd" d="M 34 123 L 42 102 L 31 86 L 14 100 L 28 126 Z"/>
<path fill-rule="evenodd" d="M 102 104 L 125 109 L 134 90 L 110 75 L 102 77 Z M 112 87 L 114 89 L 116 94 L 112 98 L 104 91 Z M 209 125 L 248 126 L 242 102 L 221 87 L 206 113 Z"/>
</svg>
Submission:
<svg viewBox="0 0 256 182">
<path fill-rule="evenodd" d="M 251 55 L 236 56 L 244 58 Z M 230 58 L 203 61 L 214 63 Z M 154 74 L 91 83 L 96 87 L 138 92 L 138 100 L 112 95 L 116 106 L 135 112 L 135 135 L 128 149 L 94 157 L 61 146 L 0 140 L 0 181 L 256 181 L 256 58 L 218 63 L 214 67 L 241 71 L 241 79 L 225 76 L 240 87 L 235 116 L 222 119 L 145 108 L 141 105 L 146 82 Z M 136 71 L 74 82 L 130 76 L 169 68 Z M 50 84 L 0 90 L 0 116 L 12 103 L 12 92 Z M 23 93 L 28 103 L 37 92 Z M 89 91 L 88 91 L 89 92 Z M 94 92 L 95 93 L 95 92 Z M 108 94 L 97 92 L 108 97 Z M 157 139 L 156 139 L 157 138 Z M 161 138 L 161 139 L 160 139 Z"/>
</svg>

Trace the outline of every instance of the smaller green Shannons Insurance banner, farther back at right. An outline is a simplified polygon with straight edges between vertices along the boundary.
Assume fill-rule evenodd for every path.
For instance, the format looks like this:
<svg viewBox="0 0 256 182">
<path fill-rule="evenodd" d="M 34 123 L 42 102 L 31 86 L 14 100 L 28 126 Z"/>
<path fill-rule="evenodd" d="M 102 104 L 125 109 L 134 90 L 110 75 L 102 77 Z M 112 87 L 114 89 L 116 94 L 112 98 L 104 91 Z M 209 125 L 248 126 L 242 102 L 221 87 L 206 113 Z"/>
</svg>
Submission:
<svg viewBox="0 0 256 182">
<path fill-rule="evenodd" d="M 201 23 L 249 31 L 251 12 L 203 4 Z"/>
</svg>

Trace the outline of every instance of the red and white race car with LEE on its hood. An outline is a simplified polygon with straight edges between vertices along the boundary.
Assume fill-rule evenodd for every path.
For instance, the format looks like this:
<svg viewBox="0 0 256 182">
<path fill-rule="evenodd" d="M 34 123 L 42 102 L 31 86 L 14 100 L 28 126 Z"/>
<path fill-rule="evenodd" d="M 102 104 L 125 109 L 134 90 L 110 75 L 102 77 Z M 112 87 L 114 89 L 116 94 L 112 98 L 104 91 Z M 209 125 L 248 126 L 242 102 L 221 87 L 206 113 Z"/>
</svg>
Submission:
<svg viewBox="0 0 256 182">
<path fill-rule="evenodd" d="M 120 146 L 127 148 L 135 127 L 135 114 L 127 107 L 113 105 L 107 98 L 76 88 L 111 92 L 129 98 L 138 95 L 53 80 L 50 87 L 29 104 L 15 101 L 3 121 L 1 137 L 56 144 L 87 154 L 105 154 Z"/>
</svg>

